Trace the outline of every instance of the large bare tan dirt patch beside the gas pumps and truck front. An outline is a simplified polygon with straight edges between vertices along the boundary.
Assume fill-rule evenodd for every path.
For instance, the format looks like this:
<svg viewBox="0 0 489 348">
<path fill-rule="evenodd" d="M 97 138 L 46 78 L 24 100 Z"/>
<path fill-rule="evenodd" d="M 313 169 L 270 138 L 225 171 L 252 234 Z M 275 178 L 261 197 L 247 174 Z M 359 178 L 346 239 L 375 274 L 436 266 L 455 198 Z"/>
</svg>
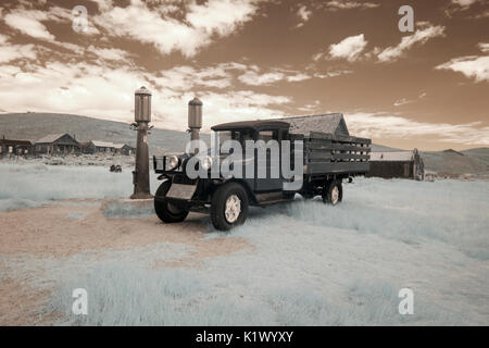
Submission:
<svg viewBox="0 0 489 348">
<path fill-rule="evenodd" d="M 193 258 L 230 253 L 249 247 L 241 238 L 205 238 L 209 217 L 189 214 L 179 224 L 163 224 L 155 215 L 112 219 L 100 207 L 46 206 L 0 213 L 0 253 L 64 257 L 84 250 L 122 249 L 156 243 L 196 248 Z"/>
</svg>

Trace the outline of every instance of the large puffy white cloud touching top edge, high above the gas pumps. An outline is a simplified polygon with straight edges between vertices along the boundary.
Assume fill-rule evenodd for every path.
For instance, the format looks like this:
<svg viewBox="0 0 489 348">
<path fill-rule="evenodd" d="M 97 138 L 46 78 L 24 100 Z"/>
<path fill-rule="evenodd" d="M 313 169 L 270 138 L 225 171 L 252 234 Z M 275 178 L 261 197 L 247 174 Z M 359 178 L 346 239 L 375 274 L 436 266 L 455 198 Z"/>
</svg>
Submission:
<svg viewBox="0 0 489 348">
<path fill-rule="evenodd" d="M 104 9 L 93 21 L 111 35 L 151 44 L 163 54 L 180 51 L 192 57 L 214 37 L 228 36 L 250 21 L 258 5 L 252 0 L 192 2 L 185 21 L 164 16 L 140 0 L 126 8 Z"/>
</svg>

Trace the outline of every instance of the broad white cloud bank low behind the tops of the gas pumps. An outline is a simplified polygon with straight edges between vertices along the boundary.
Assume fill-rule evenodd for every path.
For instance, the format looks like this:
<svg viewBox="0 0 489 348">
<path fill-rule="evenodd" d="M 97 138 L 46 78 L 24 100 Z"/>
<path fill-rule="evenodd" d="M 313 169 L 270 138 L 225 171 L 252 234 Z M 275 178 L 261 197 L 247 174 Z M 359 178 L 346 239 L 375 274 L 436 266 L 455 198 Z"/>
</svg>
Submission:
<svg viewBox="0 0 489 348">
<path fill-rule="evenodd" d="M 187 102 L 195 95 L 204 102 L 204 129 L 221 122 L 284 115 L 280 107 L 290 103 L 290 98 L 227 88 L 225 66 L 229 71 L 241 69 L 239 63 L 225 63 L 149 74 L 134 67 L 88 63 L 47 62 L 46 66 L 29 64 L 24 71 L 0 65 L 0 100 L 9 112 L 51 111 L 130 122 L 134 91 L 147 86 L 153 92 L 153 123 L 159 127 L 185 130 Z M 200 85 L 220 90 L 199 88 L 192 92 L 192 87 Z"/>
</svg>

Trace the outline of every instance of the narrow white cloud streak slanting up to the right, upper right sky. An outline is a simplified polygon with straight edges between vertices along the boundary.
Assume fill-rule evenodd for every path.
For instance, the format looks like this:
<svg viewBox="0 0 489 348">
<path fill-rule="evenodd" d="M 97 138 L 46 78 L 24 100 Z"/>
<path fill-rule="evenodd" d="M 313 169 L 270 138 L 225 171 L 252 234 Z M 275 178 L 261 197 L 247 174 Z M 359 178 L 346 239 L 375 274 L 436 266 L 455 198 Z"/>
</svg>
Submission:
<svg viewBox="0 0 489 348">
<path fill-rule="evenodd" d="M 444 33 L 443 26 L 440 25 L 431 26 L 430 24 L 428 24 L 427 27 L 423 29 L 417 29 L 413 35 L 404 36 L 398 46 L 394 47 L 391 46 L 384 49 L 380 53 L 378 53 L 377 57 L 381 62 L 396 61 L 398 58 L 402 57 L 402 54 L 406 50 L 411 49 L 414 45 L 416 44 L 424 45 L 429 39 L 432 39 L 438 36 L 443 36 L 444 35 L 443 33 Z"/>
</svg>

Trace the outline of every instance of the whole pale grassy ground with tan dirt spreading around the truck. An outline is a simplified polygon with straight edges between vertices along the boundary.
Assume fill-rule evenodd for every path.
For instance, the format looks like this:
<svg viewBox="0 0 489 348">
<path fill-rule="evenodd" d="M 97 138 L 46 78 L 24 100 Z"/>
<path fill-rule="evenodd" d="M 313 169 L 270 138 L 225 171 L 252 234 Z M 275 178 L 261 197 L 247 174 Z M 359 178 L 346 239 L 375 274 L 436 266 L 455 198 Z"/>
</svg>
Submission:
<svg viewBox="0 0 489 348">
<path fill-rule="evenodd" d="M 0 164 L 0 222 L 16 228 L 16 216 L 24 216 L 22 232 L 41 234 L 47 250 L 28 245 L 22 234 L 11 232 L 12 239 L 0 234 L 15 241 L 1 249 L 0 279 L 20 284 L 0 287 L 18 301 L 0 306 L 0 322 L 489 323 L 488 182 L 359 179 L 344 186 L 341 206 L 298 197 L 290 204 L 252 209 L 246 225 L 230 234 L 215 232 L 204 215 L 164 225 L 150 208 L 110 203 L 127 197 L 130 183 L 128 171 Z M 29 216 L 43 215 L 46 228 L 36 229 Z M 49 219 L 61 220 L 60 226 Z M 66 244 L 50 243 L 54 236 Z M 71 312 L 77 287 L 88 291 L 86 316 Z M 398 312 L 403 287 L 414 291 L 413 315 Z M 12 295 L 15 288 L 24 297 Z M 41 300 L 28 294 L 42 294 Z"/>
</svg>

